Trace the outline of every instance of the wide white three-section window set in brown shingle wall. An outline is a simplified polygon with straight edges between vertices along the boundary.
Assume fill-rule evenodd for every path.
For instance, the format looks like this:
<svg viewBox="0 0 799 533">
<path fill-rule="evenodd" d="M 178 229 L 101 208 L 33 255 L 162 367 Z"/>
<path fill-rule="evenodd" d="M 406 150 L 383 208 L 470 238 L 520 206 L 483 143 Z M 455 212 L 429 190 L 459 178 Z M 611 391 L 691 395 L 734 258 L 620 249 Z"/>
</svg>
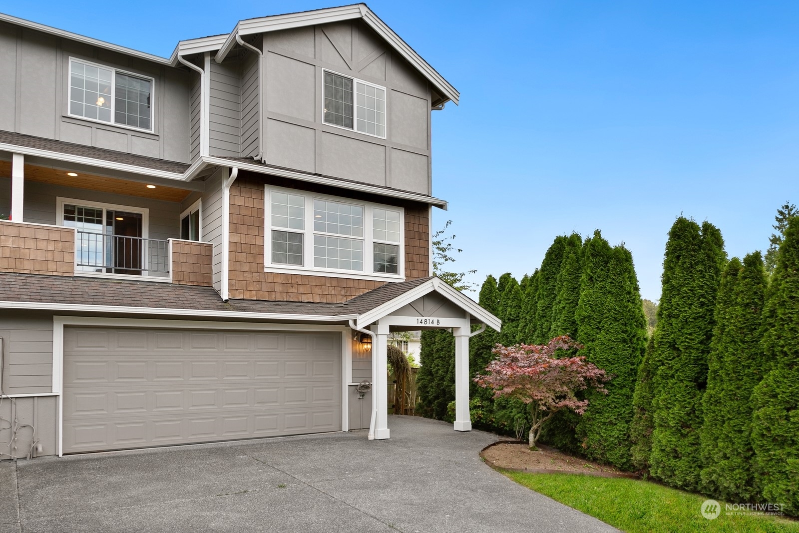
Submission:
<svg viewBox="0 0 799 533">
<path fill-rule="evenodd" d="M 265 268 L 404 278 L 404 209 L 266 187 Z"/>
</svg>

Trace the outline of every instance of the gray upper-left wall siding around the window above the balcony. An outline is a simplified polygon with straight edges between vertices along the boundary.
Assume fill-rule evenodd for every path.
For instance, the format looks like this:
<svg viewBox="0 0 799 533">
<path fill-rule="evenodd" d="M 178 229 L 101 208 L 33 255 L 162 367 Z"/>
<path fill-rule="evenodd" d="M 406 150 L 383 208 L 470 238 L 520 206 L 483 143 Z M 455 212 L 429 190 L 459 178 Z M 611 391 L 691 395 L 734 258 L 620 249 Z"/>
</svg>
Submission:
<svg viewBox="0 0 799 533">
<path fill-rule="evenodd" d="M 189 73 L 7 23 L 0 50 L 0 128 L 189 162 Z M 68 116 L 70 58 L 153 78 L 153 132 Z"/>
</svg>

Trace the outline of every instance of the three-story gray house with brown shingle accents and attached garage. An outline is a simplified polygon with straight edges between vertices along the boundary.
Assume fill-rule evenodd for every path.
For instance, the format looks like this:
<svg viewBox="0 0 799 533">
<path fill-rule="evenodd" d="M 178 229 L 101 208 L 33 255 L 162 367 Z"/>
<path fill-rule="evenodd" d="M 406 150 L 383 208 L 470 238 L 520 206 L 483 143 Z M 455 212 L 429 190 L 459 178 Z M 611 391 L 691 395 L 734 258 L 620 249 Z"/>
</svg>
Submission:
<svg viewBox="0 0 799 533">
<path fill-rule="evenodd" d="M 471 324 L 499 320 L 431 276 L 431 111 L 459 94 L 367 6 L 170 58 L 0 15 L 0 72 L 0 458 L 386 439 L 411 326 L 455 332 L 471 428 Z"/>
</svg>

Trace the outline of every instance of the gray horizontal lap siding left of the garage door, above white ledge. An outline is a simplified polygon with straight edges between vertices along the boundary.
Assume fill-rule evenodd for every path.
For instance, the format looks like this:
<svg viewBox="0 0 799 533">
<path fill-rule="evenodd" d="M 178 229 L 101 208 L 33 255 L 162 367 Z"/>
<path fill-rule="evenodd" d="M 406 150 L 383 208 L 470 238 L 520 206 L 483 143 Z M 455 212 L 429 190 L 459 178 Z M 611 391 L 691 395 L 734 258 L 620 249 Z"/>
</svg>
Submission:
<svg viewBox="0 0 799 533">
<path fill-rule="evenodd" d="M 53 392 L 53 316 L 37 312 L 4 312 L 2 392 Z"/>
</svg>

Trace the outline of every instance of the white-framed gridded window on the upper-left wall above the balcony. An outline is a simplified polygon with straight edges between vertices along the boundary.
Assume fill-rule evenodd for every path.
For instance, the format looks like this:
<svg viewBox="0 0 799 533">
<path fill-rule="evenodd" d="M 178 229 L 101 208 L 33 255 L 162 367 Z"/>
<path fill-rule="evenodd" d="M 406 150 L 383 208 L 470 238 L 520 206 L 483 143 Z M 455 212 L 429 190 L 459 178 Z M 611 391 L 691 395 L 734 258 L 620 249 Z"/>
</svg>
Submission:
<svg viewBox="0 0 799 533">
<path fill-rule="evenodd" d="M 69 115 L 153 131 L 155 80 L 70 58 Z"/>
</svg>

